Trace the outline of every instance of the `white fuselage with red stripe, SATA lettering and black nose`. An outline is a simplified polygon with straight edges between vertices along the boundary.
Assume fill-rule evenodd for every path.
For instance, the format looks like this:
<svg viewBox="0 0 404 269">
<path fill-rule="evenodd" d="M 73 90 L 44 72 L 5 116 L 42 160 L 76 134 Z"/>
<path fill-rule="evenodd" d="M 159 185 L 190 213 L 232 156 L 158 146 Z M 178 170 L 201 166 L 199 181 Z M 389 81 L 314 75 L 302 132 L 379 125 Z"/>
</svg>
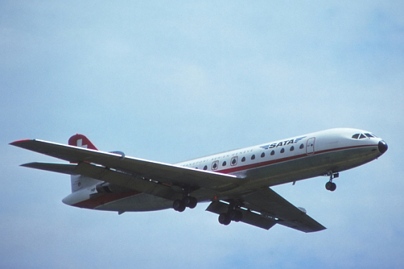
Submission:
<svg viewBox="0 0 404 269">
<path fill-rule="evenodd" d="M 383 143 L 382 139 L 364 130 L 337 128 L 183 161 L 176 166 L 232 174 L 245 180 L 242 190 L 253 191 L 361 166 L 386 151 Z M 64 198 L 63 202 L 77 207 L 118 212 L 172 207 L 171 200 L 135 191 L 107 193 L 98 198 L 103 199 L 101 201 L 91 200 L 89 195 L 94 193 L 94 188 L 95 185 L 82 188 Z M 228 190 L 220 199 L 225 200 L 226 195 L 240 193 L 240 190 Z M 198 190 L 195 192 L 198 193 Z M 212 199 L 206 197 L 198 202 Z"/>
</svg>

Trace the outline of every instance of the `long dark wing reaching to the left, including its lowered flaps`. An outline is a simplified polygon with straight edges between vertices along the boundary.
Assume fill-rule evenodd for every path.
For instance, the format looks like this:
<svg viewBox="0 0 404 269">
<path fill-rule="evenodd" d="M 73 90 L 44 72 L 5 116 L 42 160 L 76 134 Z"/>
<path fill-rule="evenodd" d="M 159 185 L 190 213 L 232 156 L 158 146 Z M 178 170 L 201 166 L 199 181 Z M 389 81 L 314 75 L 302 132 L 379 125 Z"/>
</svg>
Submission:
<svg viewBox="0 0 404 269">
<path fill-rule="evenodd" d="M 242 178 L 231 175 L 42 140 L 21 140 L 11 144 L 73 163 L 23 164 L 25 167 L 82 175 L 169 200 L 181 199 L 184 193 L 192 193 L 198 201 L 212 200 L 242 183 Z"/>
</svg>

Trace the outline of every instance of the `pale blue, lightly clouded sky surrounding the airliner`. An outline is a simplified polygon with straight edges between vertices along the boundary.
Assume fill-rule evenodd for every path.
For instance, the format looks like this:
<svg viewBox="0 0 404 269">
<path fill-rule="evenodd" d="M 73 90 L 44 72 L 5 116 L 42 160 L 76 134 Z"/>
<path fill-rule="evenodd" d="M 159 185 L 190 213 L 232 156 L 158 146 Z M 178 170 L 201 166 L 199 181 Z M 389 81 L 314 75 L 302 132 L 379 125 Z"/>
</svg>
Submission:
<svg viewBox="0 0 404 269">
<path fill-rule="evenodd" d="M 0 1 L 0 268 L 403 268 L 403 1 Z M 208 204 L 62 204 L 57 161 L 11 147 L 81 133 L 175 163 L 333 127 L 378 160 L 274 190 L 327 229 L 228 227 Z"/>
</svg>

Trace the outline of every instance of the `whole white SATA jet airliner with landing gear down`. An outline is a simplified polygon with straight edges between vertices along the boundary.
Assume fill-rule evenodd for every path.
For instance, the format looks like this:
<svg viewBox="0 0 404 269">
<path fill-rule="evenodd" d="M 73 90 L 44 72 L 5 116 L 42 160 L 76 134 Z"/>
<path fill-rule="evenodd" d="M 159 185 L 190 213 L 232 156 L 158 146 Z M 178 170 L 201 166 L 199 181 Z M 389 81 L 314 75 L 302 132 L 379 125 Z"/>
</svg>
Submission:
<svg viewBox="0 0 404 269">
<path fill-rule="evenodd" d="M 68 161 L 69 164 L 22 164 L 71 176 L 72 193 L 64 204 L 91 210 L 142 212 L 173 208 L 183 212 L 199 202 L 218 214 L 220 224 L 244 222 L 262 229 L 275 224 L 304 232 L 322 224 L 271 187 L 327 176 L 325 188 L 337 188 L 340 172 L 378 159 L 388 146 L 371 132 L 336 128 L 235 149 L 177 164 L 99 151 L 84 135 L 68 145 L 38 139 L 10 143 Z"/>
</svg>

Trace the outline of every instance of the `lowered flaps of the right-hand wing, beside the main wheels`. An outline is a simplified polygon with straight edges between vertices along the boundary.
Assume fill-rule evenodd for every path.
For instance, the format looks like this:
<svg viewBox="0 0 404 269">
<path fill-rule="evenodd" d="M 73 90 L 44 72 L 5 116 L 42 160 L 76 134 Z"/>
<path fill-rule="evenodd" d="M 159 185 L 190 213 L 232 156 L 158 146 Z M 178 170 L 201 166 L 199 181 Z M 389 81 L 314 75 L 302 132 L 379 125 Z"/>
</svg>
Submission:
<svg viewBox="0 0 404 269">
<path fill-rule="evenodd" d="M 208 208 L 206 208 L 206 211 L 216 214 L 222 214 L 228 212 L 228 208 L 229 205 L 225 204 L 224 202 L 214 201 L 211 202 L 211 205 L 209 205 Z M 276 224 L 276 221 L 274 219 L 269 219 L 260 214 L 242 209 L 240 209 L 239 211 L 242 212 L 241 222 L 245 222 L 255 227 L 269 230 Z"/>
</svg>

